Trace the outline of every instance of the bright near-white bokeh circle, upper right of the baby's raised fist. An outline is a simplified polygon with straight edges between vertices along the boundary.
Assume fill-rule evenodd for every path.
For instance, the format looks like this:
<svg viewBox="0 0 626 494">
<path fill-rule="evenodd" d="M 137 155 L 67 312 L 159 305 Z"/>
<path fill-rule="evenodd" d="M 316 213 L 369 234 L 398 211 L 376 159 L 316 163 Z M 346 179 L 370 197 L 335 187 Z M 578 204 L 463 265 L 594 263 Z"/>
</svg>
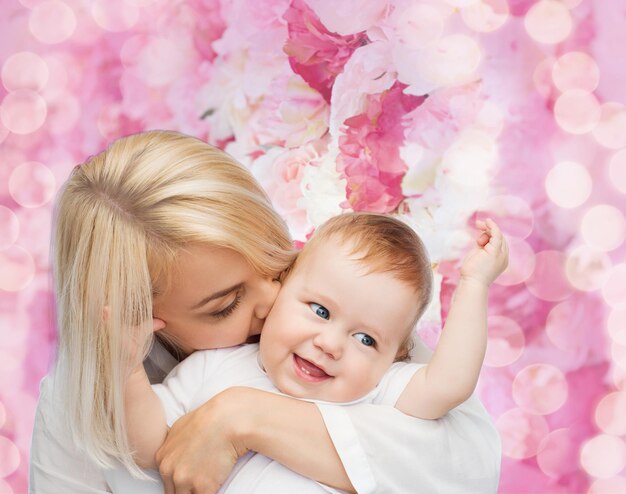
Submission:
<svg viewBox="0 0 626 494">
<path fill-rule="evenodd" d="M 546 175 L 550 200 L 562 208 L 575 208 L 591 195 L 592 180 L 587 169 L 574 161 L 561 161 Z"/>
</svg>

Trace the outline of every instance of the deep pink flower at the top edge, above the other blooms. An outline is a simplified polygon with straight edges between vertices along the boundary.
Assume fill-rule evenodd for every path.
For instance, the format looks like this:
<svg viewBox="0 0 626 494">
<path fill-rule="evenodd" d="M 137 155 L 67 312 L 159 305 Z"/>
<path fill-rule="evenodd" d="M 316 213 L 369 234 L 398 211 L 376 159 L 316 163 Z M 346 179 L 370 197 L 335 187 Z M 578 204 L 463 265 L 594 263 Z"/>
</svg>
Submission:
<svg viewBox="0 0 626 494">
<path fill-rule="evenodd" d="M 335 77 L 354 50 L 367 42 L 365 33 L 329 32 L 303 0 L 294 0 L 283 17 L 289 30 L 284 50 L 291 68 L 330 102 Z"/>
</svg>

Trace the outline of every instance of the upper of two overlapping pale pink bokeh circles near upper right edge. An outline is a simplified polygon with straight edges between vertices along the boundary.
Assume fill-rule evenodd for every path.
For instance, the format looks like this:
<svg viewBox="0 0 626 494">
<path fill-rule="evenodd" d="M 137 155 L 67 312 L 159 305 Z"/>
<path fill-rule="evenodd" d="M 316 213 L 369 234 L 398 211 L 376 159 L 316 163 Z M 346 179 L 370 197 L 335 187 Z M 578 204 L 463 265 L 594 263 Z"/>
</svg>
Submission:
<svg viewBox="0 0 626 494">
<path fill-rule="evenodd" d="M 571 51 L 559 57 L 552 67 L 552 80 L 562 92 L 570 89 L 591 92 L 600 82 L 600 69 L 587 53 Z"/>
</svg>

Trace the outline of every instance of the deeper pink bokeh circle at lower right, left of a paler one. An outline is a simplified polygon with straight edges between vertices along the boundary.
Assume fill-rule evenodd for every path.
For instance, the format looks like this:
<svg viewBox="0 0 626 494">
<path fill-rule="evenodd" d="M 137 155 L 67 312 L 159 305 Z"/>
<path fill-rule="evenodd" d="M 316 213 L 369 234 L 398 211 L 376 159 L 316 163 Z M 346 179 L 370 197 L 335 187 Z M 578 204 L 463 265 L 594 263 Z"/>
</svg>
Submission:
<svg viewBox="0 0 626 494">
<path fill-rule="evenodd" d="M 537 464 L 548 477 L 558 478 L 576 470 L 578 452 L 569 429 L 556 429 L 543 438 Z"/>
</svg>

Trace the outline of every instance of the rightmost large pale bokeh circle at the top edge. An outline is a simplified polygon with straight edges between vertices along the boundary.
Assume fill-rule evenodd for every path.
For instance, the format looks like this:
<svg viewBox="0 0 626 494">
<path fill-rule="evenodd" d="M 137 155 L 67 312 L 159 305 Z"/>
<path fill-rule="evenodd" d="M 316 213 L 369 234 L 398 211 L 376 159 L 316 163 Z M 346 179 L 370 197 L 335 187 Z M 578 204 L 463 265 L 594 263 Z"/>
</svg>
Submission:
<svg viewBox="0 0 626 494">
<path fill-rule="evenodd" d="M 524 17 L 528 35 L 539 43 L 560 43 L 572 31 L 572 17 L 567 7 L 556 0 L 541 0 Z"/>
</svg>

